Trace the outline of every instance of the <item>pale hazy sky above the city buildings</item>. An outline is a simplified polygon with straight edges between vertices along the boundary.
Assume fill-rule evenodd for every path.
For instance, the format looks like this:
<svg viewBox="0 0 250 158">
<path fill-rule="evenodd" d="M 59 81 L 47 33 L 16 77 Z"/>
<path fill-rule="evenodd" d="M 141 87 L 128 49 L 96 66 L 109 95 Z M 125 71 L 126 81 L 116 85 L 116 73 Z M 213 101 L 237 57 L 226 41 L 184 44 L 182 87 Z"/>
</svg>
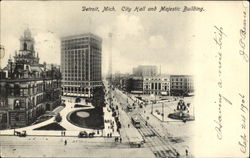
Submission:
<svg viewBox="0 0 250 158">
<path fill-rule="evenodd" d="M 122 12 L 122 6 L 156 6 L 152 2 L 1 2 L 1 44 L 5 57 L 19 50 L 19 38 L 29 28 L 35 38 L 40 62 L 60 64 L 60 37 L 92 32 L 103 39 L 102 67 L 108 71 L 109 50 L 113 54 L 113 72 L 131 73 L 137 65 L 156 65 L 161 73 L 192 74 L 195 13 Z M 162 3 L 162 4 L 161 4 Z M 159 2 L 171 6 L 172 2 Z M 175 3 L 175 6 L 182 3 Z M 82 11 L 82 6 L 100 8 L 100 12 Z M 116 12 L 101 12 L 103 6 L 115 6 Z M 108 34 L 112 33 L 112 41 Z"/>
</svg>

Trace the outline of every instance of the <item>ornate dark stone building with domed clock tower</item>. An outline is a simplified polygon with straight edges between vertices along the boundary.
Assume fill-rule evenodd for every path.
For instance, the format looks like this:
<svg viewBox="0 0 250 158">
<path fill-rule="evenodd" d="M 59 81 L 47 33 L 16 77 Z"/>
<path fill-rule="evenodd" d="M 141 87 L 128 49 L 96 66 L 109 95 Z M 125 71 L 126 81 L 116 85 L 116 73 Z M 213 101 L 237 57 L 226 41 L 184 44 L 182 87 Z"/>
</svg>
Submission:
<svg viewBox="0 0 250 158">
<path fill-rule="evenodd" d="M 39 63 L 29 29 L 20 38 L 14 61 L 0 70 L 0 128 L 18 128 L 33 123 L 61 103 L 60 69 Z"/>
</svg>

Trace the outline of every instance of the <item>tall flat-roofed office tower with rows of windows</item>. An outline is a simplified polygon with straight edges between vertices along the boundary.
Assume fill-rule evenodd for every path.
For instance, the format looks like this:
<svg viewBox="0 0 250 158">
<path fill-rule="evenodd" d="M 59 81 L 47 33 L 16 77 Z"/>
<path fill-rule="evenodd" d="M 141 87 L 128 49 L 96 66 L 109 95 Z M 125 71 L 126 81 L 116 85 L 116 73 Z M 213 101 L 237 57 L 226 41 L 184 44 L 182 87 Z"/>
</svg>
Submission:
<svg viewBox="0 0 250 158">
<path fill-rule="evenodd" d="M 91 97 L 102 86 L 102 39 L 92 33 L 61 38 L 63 95 Z"/>
</svg>

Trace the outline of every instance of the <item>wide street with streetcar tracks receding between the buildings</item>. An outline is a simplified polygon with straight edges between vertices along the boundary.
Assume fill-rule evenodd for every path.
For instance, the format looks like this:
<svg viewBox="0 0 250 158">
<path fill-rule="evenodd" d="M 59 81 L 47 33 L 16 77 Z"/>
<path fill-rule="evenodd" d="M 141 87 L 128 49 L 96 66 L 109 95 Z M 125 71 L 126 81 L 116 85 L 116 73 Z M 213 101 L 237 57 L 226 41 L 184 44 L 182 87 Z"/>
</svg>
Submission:
<svg viewBox="0 0 250 158">
<path fill-rule="evenodd" d="M 186 130 L 191 128 L 189 126 L 193 125 L 192 122 L 186 124 L 182 121 L 162 122 L 151 114 L 150 105 L 140 108 L 136 101 L 132 100 L 131 97 L 117 89 L 114 91 L 114 96 L 122 109 L 126 109 L 128 104 L 135 104 L 135 109 L 127 114 L 130 117 L 132 115 L 138 117 L 141 123 L 141 128 L 138 129 L 138 131 L 146 142 L 145 146 L 150 148 L 156 157 L 176 157 L 177 155 L 186 156 L 186 150 L 190 150 L 191 148 L 190 140 L 189 137 L 187 137 L 187 134 L 181 131 L 183 131 L 182 129 Z M 169 113 L 173 111 L 173 107 L 168 107 L 165 111 L 168 111 Z M 188 156 L 191 156 L 190 151 Z"/>
</svg>

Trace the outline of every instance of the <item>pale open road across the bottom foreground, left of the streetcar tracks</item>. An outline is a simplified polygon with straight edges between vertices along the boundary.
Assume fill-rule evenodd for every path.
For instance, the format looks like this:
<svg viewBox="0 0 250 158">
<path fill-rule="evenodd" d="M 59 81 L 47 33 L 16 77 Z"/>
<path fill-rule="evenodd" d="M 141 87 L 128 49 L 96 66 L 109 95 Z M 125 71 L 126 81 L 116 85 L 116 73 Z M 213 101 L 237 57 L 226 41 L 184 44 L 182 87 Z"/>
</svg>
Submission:
<svg viewBox="0 0 250 158">
<path fill-rule="evenodd" d="M 1 157 L 153 157 L 147 148 L 128 148 L 112 138 L 0 136 L 0 140 Z"/>
</svg>

